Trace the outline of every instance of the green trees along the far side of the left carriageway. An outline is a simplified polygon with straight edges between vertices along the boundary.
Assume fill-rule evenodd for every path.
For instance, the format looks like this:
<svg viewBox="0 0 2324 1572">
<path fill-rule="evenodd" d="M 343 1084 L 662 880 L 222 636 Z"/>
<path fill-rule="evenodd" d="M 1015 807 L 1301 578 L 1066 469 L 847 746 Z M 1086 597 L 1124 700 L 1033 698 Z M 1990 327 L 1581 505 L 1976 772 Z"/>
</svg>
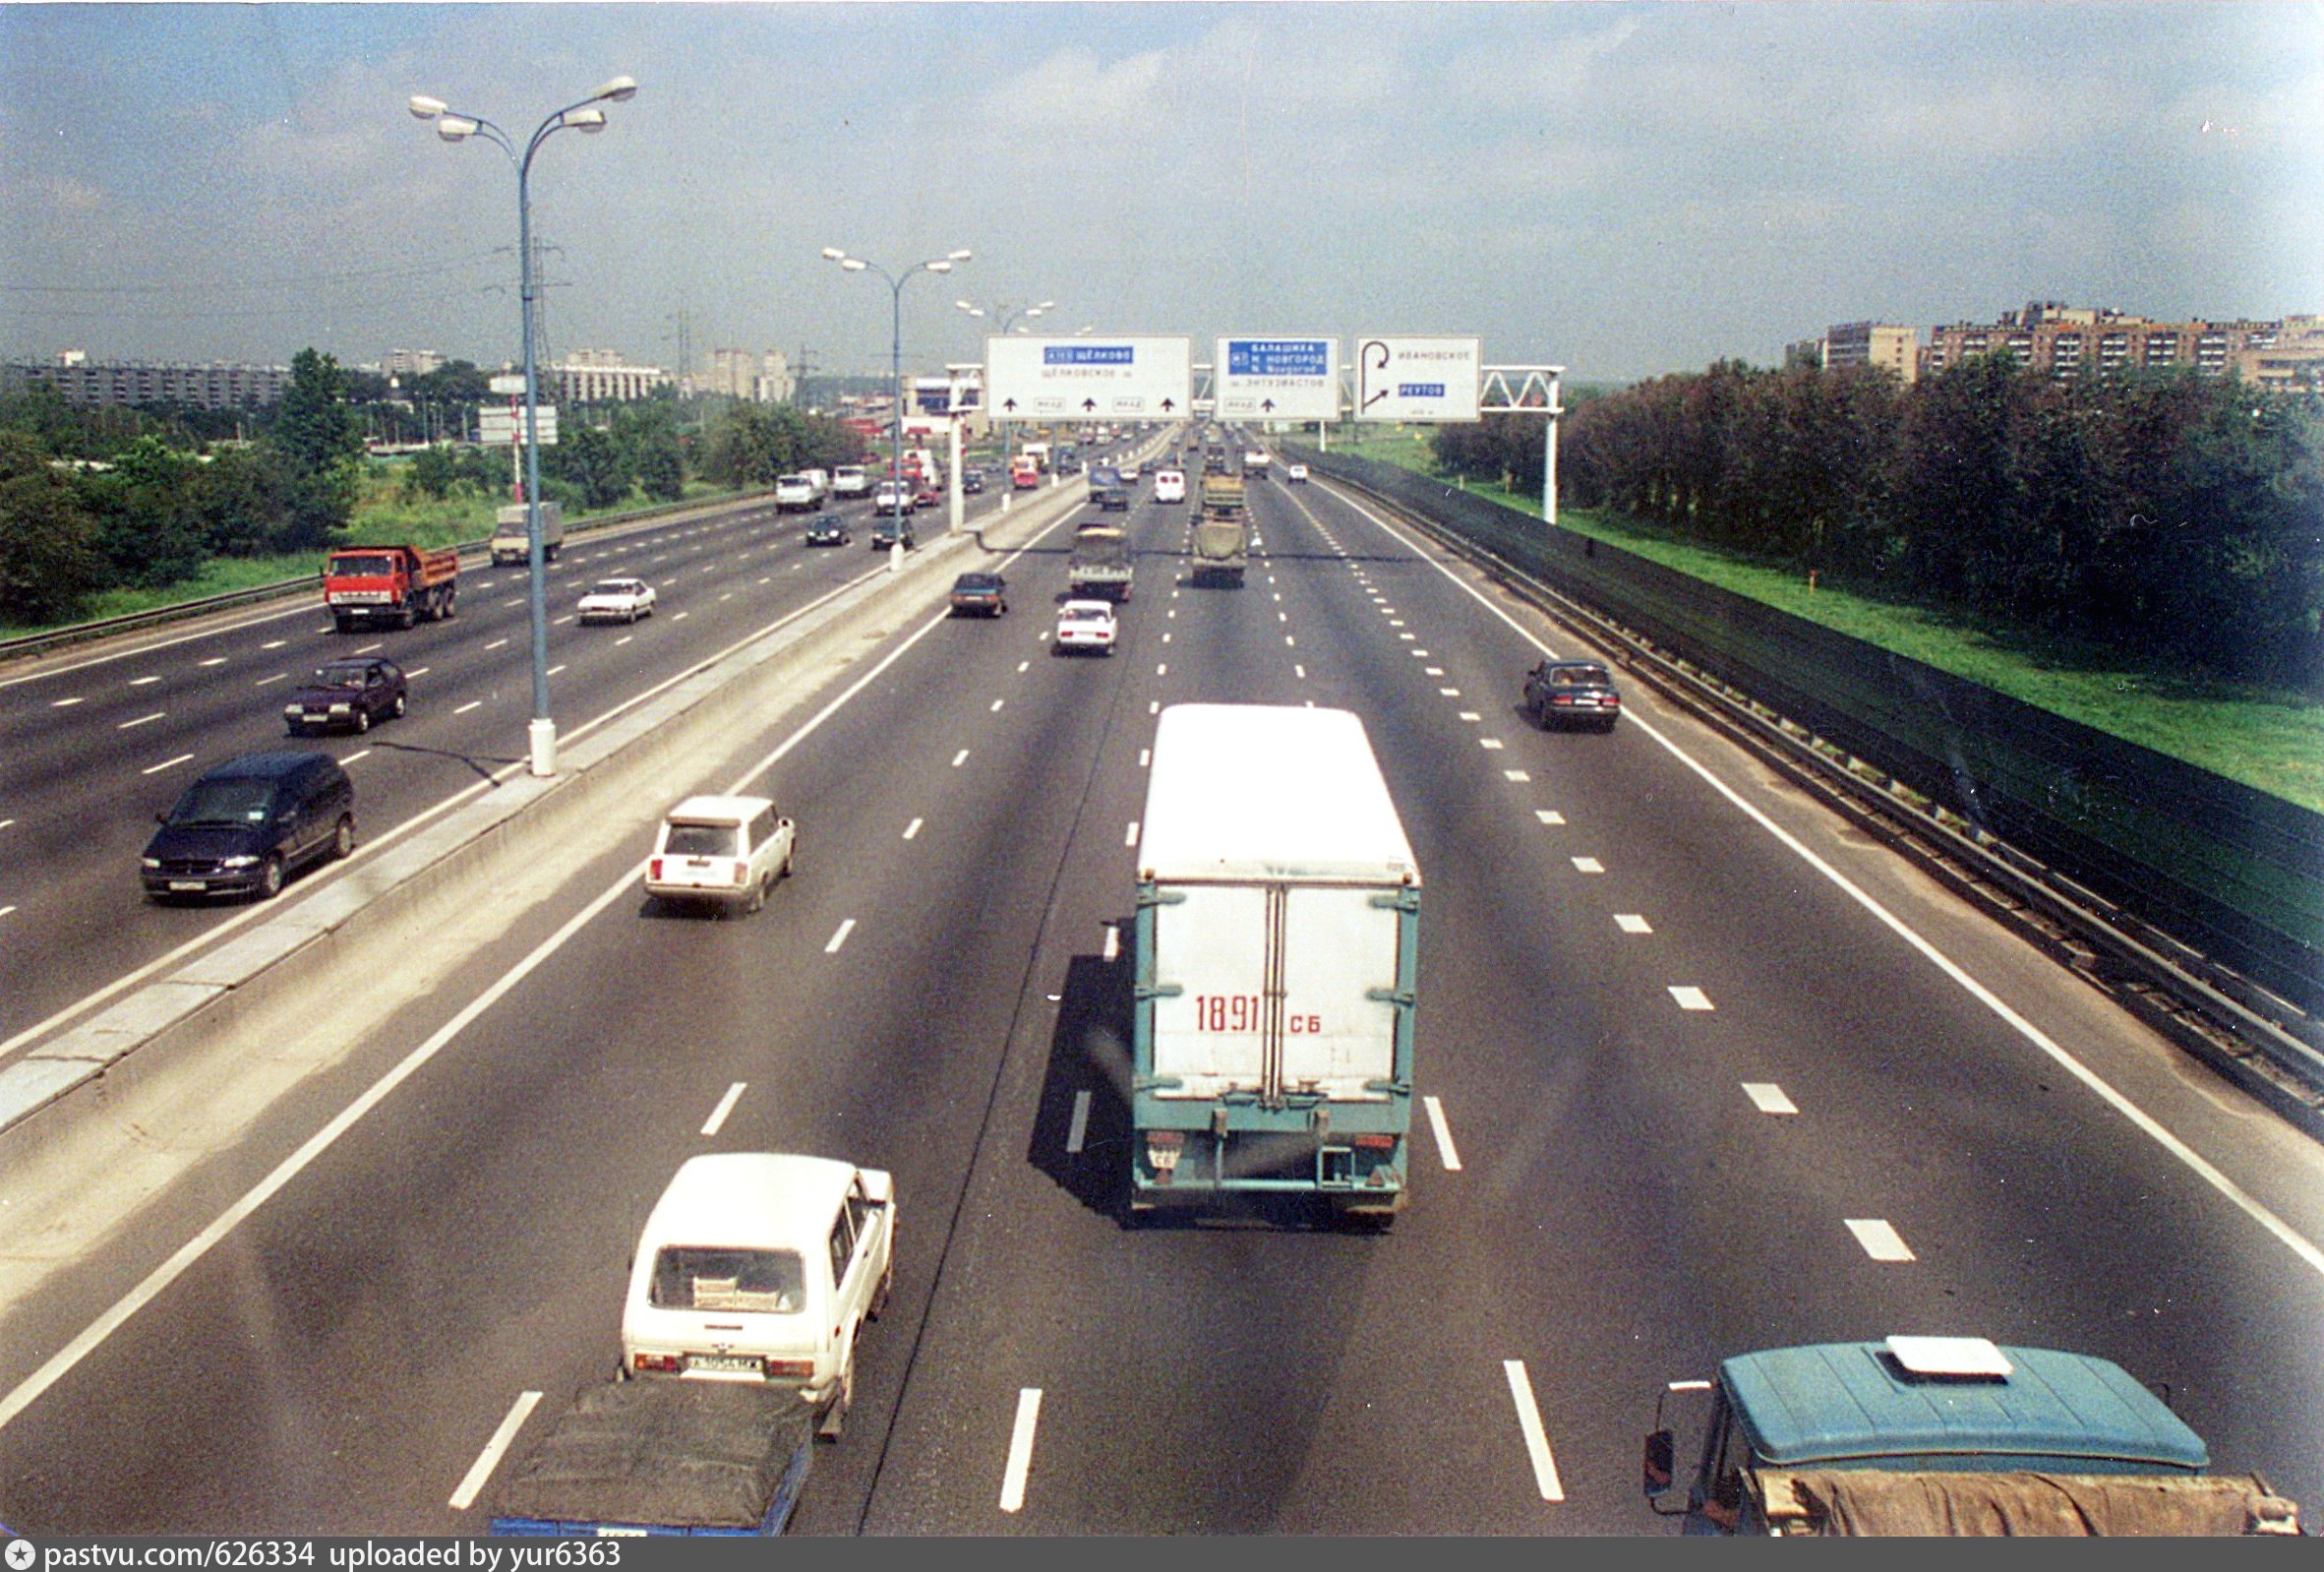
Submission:
<svg viewBox="0 0 2324 1572">
<path fill-rule="evenodd" d="M 367 386 L 365 379 L 379 384 Z M 0 398 L 0 621 L 79 616 L 107 588 L 160 588 L 214 558 L 328 551 L 349 540 L 363 491 L 358 395 L 383 379 L 300 351 L 263 412 L 77 409 L 35 384 Z M 407 395 L 435 430 L 465 433 L 486 377 L 453 360 Z M 239 440 L 249 437 L 249 440 Z M 674 502 L 690 477 L 772 486 L 799 467 L 858 463 L 837 421 L 765 405 L 681 405 L 674 395 L 565 412 L 541 449 L 541 495 L 604 512 L 632 495 Z M 511 495 L 509 449 L 439 442 L 397 465 L 407 498 Z"/>
</svg>

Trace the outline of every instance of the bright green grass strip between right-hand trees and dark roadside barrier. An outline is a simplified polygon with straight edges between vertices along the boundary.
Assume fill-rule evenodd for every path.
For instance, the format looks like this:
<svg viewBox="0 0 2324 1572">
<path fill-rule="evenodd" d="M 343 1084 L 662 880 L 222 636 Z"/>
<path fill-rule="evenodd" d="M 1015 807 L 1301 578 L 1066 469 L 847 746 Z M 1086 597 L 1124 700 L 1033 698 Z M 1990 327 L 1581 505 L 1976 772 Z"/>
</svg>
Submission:
<svg viewBox="0 0 2324 1572">
<path fill-rule="evenodd" d="M 1434 474 L 1427 435 L 1408 428 L 1387 428 L 1360 442 L 1341 442 L 1334 435 L 1332 451 Z M 1536 495 L 1483 484 L 1469 484 L 1466 491 L 1541 516 Z M 1929 607 L 1810 588 L 1794 570 L 1676 540 L 1599 509 L 1562 507 L 1557 523 L 2027 705 L 2324 812 L 2324 702 L 2312 695 L 2203 681 L 2126 658 L 2122 651 Z"/>
</svg>

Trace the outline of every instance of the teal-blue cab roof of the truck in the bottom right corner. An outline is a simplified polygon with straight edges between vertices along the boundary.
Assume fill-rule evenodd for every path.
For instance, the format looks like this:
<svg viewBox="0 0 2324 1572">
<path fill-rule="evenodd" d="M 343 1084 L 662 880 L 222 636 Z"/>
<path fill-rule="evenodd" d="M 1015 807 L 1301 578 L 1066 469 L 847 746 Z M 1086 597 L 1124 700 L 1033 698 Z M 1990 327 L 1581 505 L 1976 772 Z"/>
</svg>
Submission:
<svg viewBox="0 0 2324 1572">
<path fill-rule="evenodd" d="M 1887 1344 L 1827 1342 L 1741 1353 L 1720 1379 L 1762 1463 L 1901 1460 L 1903 1467 L 2201 1472 L 2203 1437 L 2122 1365 L 2089 1353 L 2001 1349 L 2006 1377 L 1913 1374 Z M 1950 1463 L 1948 1463 L 1950 1460 Z M 2020 1463 L 2031 1460 L 2031 1463 Z"/>
</svg>

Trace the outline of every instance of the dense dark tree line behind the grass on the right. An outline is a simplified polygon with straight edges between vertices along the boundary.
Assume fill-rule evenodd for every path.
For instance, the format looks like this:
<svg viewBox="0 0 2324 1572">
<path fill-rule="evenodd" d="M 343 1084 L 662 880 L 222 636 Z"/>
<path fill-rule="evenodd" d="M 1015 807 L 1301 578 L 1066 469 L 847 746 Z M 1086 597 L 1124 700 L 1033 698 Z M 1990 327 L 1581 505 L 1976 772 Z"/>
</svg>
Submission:
<svg viewBox="0 0 2324 1572">
<path fill-rule="evenodd" d="M 1541 488 L 1538 416 L 1446 428 L 1439 465 Z M 2324 684 L 2324 412 L 2233 379 L 2059 381 L 1975 356 L 1720 360 L 1576 398 L 1557 484 L 1820 581 L 2205 677 Z"/>
</svg>

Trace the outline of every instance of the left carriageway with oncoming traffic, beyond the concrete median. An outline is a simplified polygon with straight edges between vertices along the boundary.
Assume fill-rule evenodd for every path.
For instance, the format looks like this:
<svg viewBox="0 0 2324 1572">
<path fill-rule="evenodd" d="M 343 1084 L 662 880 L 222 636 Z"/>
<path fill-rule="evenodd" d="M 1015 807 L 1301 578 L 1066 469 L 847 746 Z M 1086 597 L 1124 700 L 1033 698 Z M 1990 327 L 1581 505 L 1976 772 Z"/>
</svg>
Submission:
<svg viewBox="0 0 2324 1572">
<path fill-rule="evenodd" d="M 969 498 L 983 519 L 997 493 Z M 809 549 L 769 498 L 672 523 L 574 535 L 548 567 L 551 712 L 560 733 L 607 716 L 727 644 L 797 612 L 883 558 L 867 549 L 869 500 L 834 505 L 853 549 Z M 918 516 L 923 540 L 941 509 Z M 644 577 L 660 609 L 637 626 L 576 628 L 600 577 Z M 525 751 L 532 646 L 525 572 L 462 567 L 460 614 L 409 630 L 342 635 L 321 593 L 163 628 L 0 670 L 0 1051 L 158 958 L 179 958 L 265 907 L 158 907 L 137 853 L 205 767 L 263 749 L 323 749 L 356 779 L 358 846 L 376 846 L 472 793 Z M 372 733 L 284 735 L 281 698 L 335 656 L 376 651 L 411 677 L 411 712 Z M 360 851 L 358 851 L 360 858 Z M 286 895 L 335 877 L 318 865 Z"/>
</svg>

